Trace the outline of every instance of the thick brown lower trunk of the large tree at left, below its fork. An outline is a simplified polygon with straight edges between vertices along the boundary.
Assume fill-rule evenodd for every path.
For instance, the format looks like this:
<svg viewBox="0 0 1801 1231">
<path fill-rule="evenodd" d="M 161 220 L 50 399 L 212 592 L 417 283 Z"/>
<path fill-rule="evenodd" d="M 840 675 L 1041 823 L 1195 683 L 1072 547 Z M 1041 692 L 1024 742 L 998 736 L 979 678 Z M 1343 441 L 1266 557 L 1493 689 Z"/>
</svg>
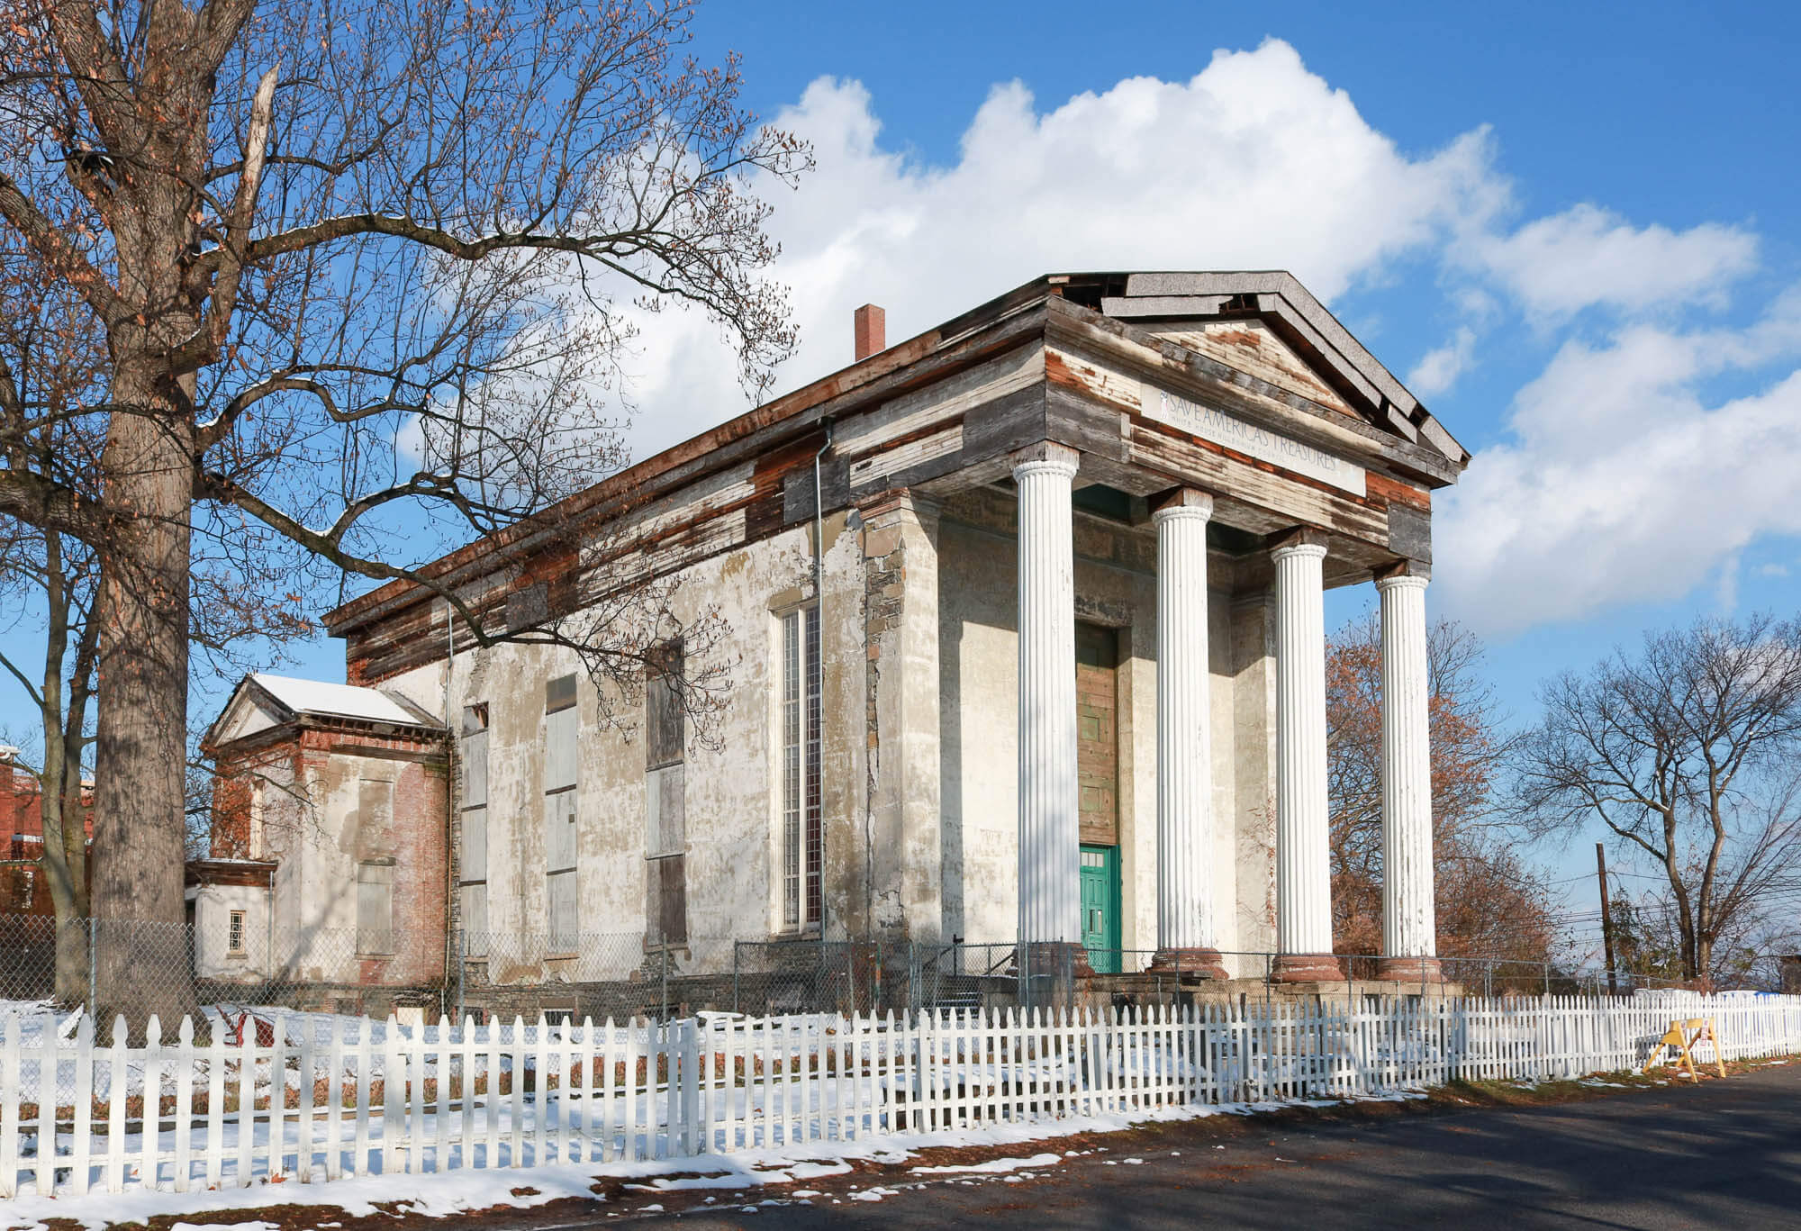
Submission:
<svg viewBox="0 0 1801 1231">
<path fill-rule="evenodd" d="M 193 1004 L 182 900 L 193 418 L 182 391 L 144 369 L 153 360 L 113 378 L 101 470 L 130 522 L 103 553 L 95 612 L 95 1011 L 133 1024 Z"/>
</svg>

